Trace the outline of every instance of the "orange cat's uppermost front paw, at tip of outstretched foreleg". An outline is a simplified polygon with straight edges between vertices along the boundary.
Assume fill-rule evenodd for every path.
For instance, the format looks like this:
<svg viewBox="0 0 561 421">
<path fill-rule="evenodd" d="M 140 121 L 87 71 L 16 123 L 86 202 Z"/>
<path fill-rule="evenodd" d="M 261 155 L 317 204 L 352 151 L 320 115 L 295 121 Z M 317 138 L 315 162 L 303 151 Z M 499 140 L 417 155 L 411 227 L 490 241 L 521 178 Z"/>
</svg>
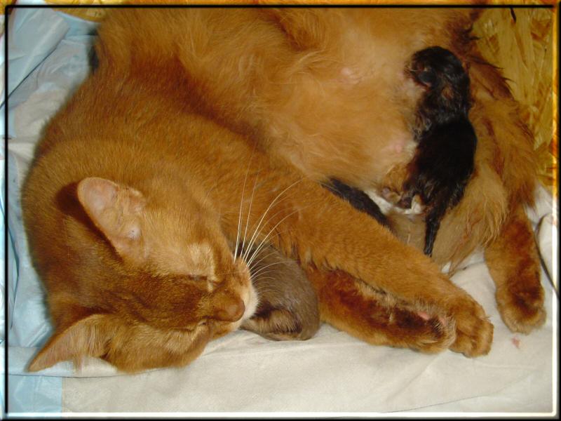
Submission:
<svg viewBox="0 0 561 421">
<path fill-rule="evenodd" d="M 468 296 L 457 300 L 451 310 L 456 322 L 456 340 L 450 349 L 469 357 L 488 354 L 494 327 L 485 310 Z"/>
</svg>

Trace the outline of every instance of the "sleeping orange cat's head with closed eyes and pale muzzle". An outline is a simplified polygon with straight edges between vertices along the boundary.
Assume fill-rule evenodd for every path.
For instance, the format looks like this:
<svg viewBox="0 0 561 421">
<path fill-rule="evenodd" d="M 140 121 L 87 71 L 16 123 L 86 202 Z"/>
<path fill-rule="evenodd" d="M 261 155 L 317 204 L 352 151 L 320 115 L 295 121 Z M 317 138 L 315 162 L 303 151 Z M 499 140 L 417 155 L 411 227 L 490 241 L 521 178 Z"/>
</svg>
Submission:
<svg viewBox="0 0 561 421">
<path fill-rule="evenodd" d="M 67 194 L 82 218 L 65 221 L 68 258 L 46 273 L 56 329 L 29 370 L 83 356 L 128 372 L 183 366 L 255 312 L 217 218 L 158 197 L 102 178 Z"/>
</svg>

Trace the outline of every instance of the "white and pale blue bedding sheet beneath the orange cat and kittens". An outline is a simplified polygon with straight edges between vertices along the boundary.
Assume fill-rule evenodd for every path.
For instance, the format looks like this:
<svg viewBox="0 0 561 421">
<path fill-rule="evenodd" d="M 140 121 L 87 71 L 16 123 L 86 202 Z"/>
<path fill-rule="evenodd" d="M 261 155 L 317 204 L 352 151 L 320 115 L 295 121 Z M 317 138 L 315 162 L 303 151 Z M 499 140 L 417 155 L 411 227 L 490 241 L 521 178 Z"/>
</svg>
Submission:
<svg viewBox="0 0 561 421">
<path fill-rule="evenodd" d="M 545 326 L 530 335 L 506 328 L 482 253 L 471 256 L 452 278 L 480 302 L 494 324 L 487 356 L 467 359 L 450 351 L 427 355 L 373 347 L 324 324 L 304 342 L 273 342 L 240 330 L 210 342 L 184 368 L 124 375 L 100 359 L 88 359 L 79 371 L 65 362 L 27 373 L 25 367 L 52 327 L 43 287 L 29 260 L 20 187 L 41 129 L 89 72 L 95 25 L 49 8 L 25 8 L 13 11 L 7 30 L 8 85 L 1 78 L 1 91 L 6 89 L 9 96 L 8 104 L 3 100 L 1 105 L 1 128 L 4 133 L 8 123 L 9 138 L 8 149 L 0 152 L 0 166 L 8 169 L 7 178 L 1 172 L 8 201 L 2 194 L 0 210 L 7 215 L 7 227 L 2 218 L 0 247 L 7 236 L 1 256 L 8 270 L 6 278 L 0 275 L 0 293 L 8 300 L 4 306 L 2 295 L 0 302 L 8 331 L 3 319 L 0 334 L 3 357 L 8 335 L 8 390 L 2 390 L 8 415 L 557 412 L 557 203 L 542 187 L 536 190 L 536 208 L 528 213 L 543 259 Z M 0 45 L 4 48 L 4 36 Z"/>
</svg>

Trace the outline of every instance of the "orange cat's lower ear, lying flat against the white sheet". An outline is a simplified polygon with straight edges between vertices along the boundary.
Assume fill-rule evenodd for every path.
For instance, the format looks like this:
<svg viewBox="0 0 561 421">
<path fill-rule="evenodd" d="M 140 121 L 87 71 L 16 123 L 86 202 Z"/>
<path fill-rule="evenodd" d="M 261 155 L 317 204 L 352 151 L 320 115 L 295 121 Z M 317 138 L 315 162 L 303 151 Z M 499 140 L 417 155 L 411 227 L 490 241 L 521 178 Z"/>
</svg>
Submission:
<svg viewBox="0 0 561 421">
<path fill-rule="evenodd" d="M 102 356 L 107 352 L 114 330 L 114 321 L 107 314 L 93 314 L 76 321 L 51 336 L 27 370 L 43 370 L 67 360 L 73 360 L 79 366 L 84 356 Z"/>
</svg>

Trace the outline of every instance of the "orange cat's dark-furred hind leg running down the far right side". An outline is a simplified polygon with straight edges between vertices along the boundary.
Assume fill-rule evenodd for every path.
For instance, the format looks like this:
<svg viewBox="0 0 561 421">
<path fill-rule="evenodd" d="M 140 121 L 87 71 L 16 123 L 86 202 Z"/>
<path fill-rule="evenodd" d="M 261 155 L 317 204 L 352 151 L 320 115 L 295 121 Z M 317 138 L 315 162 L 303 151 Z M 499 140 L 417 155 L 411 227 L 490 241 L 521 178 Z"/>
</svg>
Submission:
<svg viewBox="0 0 561 421">
<path fill-rule="evenodd" d="M 503 321 L 513 331 L 529 333 L 545 320 L 539 255 L 523 208 L 532 204 L 538 180 L 534 138 L 499 70 L 487 64 L 475 47 L 466 56 L 471 59 L 469 74 L 476 101 L 470 118 L 480 139 L 478 149 L 489 149 L 480 166 L 499 175 L 501 194 L 510 203 L 505 218 L 493 218 L 501 225 L 495 222 L 485 229 L 496 233 L 485 249 L 485 259 Z"/>
</svg>

